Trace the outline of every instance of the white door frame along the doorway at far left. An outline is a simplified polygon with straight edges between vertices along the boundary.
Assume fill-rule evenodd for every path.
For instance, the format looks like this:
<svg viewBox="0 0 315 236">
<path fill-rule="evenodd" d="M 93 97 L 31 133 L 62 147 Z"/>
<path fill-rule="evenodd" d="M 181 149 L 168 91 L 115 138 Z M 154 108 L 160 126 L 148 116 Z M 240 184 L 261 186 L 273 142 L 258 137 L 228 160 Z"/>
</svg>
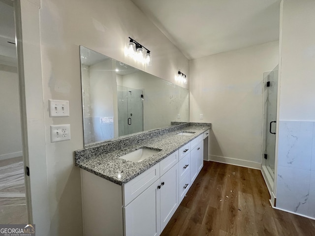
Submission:
<svg viewBox="0 0 315 236">
<path fill-rule="evenodd" d="M 30 224 L 36 224 L 38 235 L 48 236 L 50 214 L 41 71 L 40 0 L 11 1 L 16 30 L 23 159 L 25 167 L 30 168 L 30 176 L 25 175 L 28 218 Z"/>
</svg>

